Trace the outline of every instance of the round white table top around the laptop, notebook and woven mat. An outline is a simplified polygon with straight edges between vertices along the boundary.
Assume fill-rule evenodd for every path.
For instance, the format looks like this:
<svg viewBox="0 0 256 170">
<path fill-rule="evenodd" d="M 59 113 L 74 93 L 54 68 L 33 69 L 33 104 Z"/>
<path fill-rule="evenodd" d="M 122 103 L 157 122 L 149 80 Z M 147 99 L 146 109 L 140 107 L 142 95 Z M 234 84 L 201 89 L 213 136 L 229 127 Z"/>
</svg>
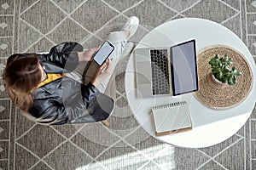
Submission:
<svg viewBox="0 0 256 170">
<path fill-rule="evenodd" d="M 192 93 L 175 97 L 137 98 L 133 55 L 126 68 L 125 92 L 137 122 L 149 134 L 168 144 L 201 148 L 218 144 L 230 138 L 247 122 L 256 101 L 256 66 L 247 46 L 235 33 L 218 23 L 204 19 L 186 18 L 166 22 L 148 32 L 136 48 L 171 47 L 191 39 L 196 41 L 197 54 L 204 48 L 224 45 L 235 48 L 247 59 L 253 72 L 253 87 L 247 98 L 239 105 L 226 110 L 213 110 L 202 105 Z M 183 133 L 156 136 L 151 108 L 180 100 L 188 101 L 193 129 Z"/>
</svg>

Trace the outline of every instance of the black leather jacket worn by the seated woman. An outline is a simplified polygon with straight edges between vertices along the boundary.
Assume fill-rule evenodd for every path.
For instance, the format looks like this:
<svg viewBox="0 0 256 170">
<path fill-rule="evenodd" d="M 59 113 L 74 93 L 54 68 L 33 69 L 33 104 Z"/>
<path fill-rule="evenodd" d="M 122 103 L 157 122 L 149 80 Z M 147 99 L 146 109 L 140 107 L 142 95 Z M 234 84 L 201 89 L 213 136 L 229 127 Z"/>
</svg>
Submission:
<svg viewBox="0 0 256 170">
<path fill-rule="evenodd" d="M 73 51 L 67 52 L 70 50 Z M 49 54 L 38 54 L 38 57 L 46 72 L 63 73 L 77 67 L 77 51 L 82 50 L 79 43 L 64 42 L 52 48 Z M 46 125 L 99 122 L 113 111 L 113 99 L 99 92 L 92 83 L 85 86 L 70 77 L 45 84 L 32 94 L 32 98 L 29 117 Z"/>
</svg>

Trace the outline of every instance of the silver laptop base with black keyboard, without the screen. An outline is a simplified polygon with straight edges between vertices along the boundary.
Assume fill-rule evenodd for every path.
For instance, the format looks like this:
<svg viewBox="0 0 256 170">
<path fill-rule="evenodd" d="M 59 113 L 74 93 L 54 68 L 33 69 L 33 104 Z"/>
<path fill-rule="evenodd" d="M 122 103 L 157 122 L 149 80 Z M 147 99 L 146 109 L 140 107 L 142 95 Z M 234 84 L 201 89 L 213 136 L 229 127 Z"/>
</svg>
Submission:
<svg viewBox="0 0 256 170">
<path fill-rule="evenodd" d="M 166 59 L 162 59 L 163 63 L 167 61 L 167 70 L 162 71 L 160 66 L 154 64 L 151 59 L 150 52 L 154 50 L 166 50 Z M 172 78 L 171 78 L 171 62 L 170 62 L 170 48 L 137 48 L 134 51 L 136 61 L 136 81 L 137 81 L 137 96 L 138 97 L 153 97 L 158 95 L 172 95 Z M 157 54 L 156 54 L 157 56 Z M 156 67 L 156 68 L 155 68 Z M 152 71 L 155 68 L 158 72 Z M 161 77 L 162 87 L 154 86 L 154 83 L 158 83 L 157 75 Z M 154 89 L 154 87 L 156 89 Z M 162 90 L 161 90 L 162 88 Z M 164 89 L 163 89 L 164 88 Z"/>
</svg>

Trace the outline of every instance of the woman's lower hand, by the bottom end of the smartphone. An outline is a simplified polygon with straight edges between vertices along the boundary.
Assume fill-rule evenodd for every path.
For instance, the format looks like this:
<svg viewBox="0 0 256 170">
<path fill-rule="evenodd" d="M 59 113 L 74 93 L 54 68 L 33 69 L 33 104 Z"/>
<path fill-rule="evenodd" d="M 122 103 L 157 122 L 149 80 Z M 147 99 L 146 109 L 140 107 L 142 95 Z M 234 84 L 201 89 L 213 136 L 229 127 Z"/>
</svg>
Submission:
<svg viewBox="0 0 256 170">
<path fill-rule="evenodd" d="M 101 82 L 111 75 L 111 60 L 108 59 L 107 63 L 104 63 L 102 66 L 99 67 L 98 71 L 96 72 L 95 78 L 92 80 L 92 84 L 98 87 Z"/>
</svg>

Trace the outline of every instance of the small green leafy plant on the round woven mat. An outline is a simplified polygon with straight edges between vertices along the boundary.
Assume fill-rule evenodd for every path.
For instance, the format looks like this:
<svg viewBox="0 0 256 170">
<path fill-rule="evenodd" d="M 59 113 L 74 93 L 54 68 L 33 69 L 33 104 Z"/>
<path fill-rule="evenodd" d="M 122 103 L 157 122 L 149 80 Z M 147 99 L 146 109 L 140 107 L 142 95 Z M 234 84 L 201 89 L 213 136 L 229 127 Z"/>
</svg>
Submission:
<svg viewBox="0 0 256 170">
<path fill-rule="evenodd" d="M 221 83 L 228 83 L 229 85 L 235 85 L 237 83 L 237 76 L 241 75 L 241 71 L 238 71 L 235 66 L 232 68 L 233 59 L 229 58 L 227 54 L 224 58 L 220 58 L 218 54 L 215 55 L 209 64 L 212 67 L 212 77 L 217 79 Z"/>
</svg>

